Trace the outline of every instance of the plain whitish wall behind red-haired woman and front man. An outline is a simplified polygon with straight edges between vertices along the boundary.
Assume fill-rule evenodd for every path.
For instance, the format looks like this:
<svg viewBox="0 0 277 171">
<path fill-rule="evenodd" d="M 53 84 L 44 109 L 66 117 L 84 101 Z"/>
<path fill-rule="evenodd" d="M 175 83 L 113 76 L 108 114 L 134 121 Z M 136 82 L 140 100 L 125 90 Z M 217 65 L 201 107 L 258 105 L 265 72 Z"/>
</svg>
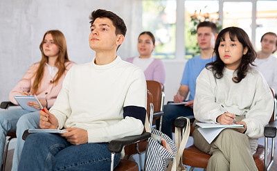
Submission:
<svg viewBox="0 0 277 171">
<path fill-rule="evenodd" d="M 111 10 L 125 21 L 127 35 L 118 55 L 136 54 L 142 31 L 141 0 L 0 0 L 0 101 L 8 100 L 28 67 L 41 59 L 39 44 L 46 30 L 64 33 L 70 60 L 91 61 L 95 53 L 89 48 L 89 15 L 98 8 Z"/>
</svg>

